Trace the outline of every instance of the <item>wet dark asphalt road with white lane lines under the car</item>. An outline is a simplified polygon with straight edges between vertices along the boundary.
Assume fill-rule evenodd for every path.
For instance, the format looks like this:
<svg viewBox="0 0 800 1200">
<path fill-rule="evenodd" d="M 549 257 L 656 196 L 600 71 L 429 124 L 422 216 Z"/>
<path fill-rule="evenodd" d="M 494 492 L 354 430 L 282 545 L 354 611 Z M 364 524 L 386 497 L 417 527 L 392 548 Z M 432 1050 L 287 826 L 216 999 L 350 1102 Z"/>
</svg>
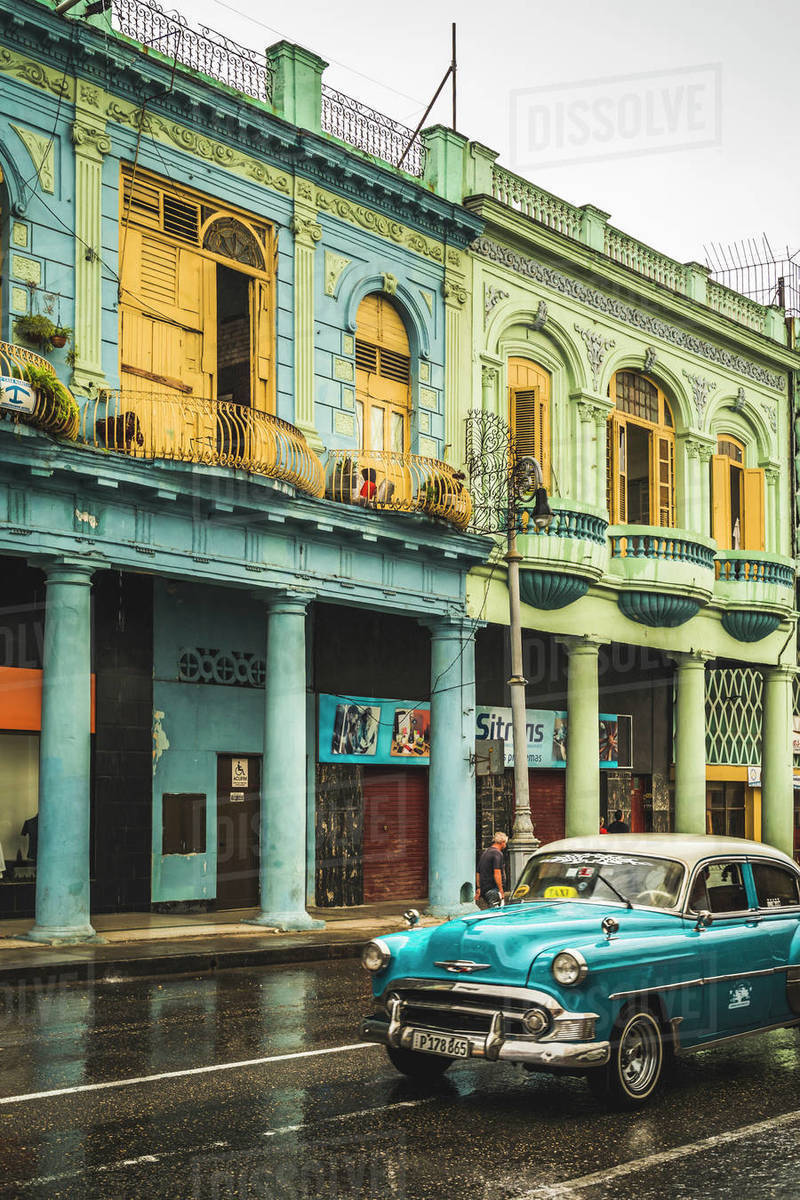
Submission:
<svg viewBox="0 0 800 1200">
<path fill-rule="evenodd" d="M 0 1196 L 800 1196 L 794 1030 L 684 1058 L 620 1115 L 512 1067 L 413 1084 L 357 1046 L 367 1009 L 356 962 L 0 994 Z"/>
</svg>

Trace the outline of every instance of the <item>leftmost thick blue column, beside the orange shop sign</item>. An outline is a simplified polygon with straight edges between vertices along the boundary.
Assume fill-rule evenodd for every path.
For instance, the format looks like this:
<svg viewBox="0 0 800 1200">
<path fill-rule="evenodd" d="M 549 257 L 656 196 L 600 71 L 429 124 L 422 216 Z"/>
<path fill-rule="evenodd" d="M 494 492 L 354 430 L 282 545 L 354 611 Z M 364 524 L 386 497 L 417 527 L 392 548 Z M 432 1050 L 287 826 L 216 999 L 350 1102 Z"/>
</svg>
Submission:
<svg viewBox="0 0 800 1200">
<path fill-rule="evenodd" d="M 89 917 L 91 576 L 46 568 L 35 942 L 85 942 Z"/>
</svg>

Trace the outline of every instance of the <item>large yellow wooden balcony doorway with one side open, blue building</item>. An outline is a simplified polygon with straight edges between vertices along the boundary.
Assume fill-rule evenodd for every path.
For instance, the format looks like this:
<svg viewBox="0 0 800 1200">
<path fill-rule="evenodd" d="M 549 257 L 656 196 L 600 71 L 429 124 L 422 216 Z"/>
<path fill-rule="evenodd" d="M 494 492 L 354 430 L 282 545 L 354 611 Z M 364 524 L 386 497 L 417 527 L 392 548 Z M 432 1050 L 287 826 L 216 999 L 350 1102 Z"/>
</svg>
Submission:
<svg viewBox="0 0 800 1200">
<path fill-rule="evenodd" d="M 216 428 L 191 398 L 273 409 L 273 252 L 264 222 L 122 167 L 120 380 L 138 433 L 124 449 L 162 454 L 185 432 L 180 457 L 221 438 L 235 454 L 245 426 L 228 415 Z M 170 400 L 196 427 L 176 430 L 174 406 L 158 403 Z"/>
</svg>

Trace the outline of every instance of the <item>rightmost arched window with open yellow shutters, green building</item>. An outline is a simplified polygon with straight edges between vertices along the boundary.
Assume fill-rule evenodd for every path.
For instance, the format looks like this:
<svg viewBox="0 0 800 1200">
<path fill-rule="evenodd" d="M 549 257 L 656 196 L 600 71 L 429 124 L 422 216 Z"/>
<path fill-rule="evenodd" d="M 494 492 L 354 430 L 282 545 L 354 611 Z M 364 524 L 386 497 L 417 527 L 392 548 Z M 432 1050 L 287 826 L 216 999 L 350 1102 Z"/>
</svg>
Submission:
<svg viewBox="0 0 800 1200">
<path fill-rule="evenodd" d="M 720 550 L 764 548 L 764 472 L 745 467 L 745 448 L 729 433 L 711 458 L 711 536 Z"/>
</svg>

